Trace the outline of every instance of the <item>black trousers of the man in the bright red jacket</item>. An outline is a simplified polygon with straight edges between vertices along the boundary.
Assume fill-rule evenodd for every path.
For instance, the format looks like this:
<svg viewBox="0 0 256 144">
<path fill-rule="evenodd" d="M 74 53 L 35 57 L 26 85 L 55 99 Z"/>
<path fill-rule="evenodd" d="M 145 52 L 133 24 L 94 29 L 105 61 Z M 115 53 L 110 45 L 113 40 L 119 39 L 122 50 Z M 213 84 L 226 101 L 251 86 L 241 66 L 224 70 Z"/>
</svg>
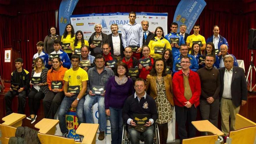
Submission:
<svg viewBox="0 0 256 144">
<path fill-rule="evenodd" d="M 185 138 L 195 137 L 196 129 L 191 122 L 196 119 L 197 108 L 195 108 L 194 105 L 192 105 L 191 108 L 175 106 L 175 113 L 180 143 L 182 143 L 182 140 Z M 188 132 L 186 131 L 186 121 L 188 121 L 189 126 Z"/>
</svg>

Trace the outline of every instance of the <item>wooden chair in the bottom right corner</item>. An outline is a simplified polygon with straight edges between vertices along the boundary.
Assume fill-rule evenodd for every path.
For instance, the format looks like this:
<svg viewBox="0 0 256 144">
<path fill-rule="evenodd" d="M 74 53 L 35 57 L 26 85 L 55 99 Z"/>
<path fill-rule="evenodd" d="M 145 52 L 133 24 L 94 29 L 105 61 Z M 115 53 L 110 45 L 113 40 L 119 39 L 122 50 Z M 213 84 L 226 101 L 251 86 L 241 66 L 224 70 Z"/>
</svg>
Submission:
<svg viewBox="0 0 256 144">
<path fill-rule="evenodd" d="M 235 131 L 230 131 L 225 144 L 253 144 L 256 135 L 256 123 L 237 114 Z"/>
</svg>

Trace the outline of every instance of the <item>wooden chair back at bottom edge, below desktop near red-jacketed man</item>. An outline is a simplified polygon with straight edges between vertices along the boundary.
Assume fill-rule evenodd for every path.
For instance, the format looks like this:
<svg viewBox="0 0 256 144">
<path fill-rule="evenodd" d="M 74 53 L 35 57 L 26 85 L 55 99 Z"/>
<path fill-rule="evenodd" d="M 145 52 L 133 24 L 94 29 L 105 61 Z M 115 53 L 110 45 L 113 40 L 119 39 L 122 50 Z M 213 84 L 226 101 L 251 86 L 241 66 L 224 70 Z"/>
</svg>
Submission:
<svg viewBox="0 0 256 144">
<path fill-rule="evenodd" d="M 187 138 L 182 141 L 182 144 L 215 144 L 216 142 L 218 142 L 218 134 Z"/>
</svg>

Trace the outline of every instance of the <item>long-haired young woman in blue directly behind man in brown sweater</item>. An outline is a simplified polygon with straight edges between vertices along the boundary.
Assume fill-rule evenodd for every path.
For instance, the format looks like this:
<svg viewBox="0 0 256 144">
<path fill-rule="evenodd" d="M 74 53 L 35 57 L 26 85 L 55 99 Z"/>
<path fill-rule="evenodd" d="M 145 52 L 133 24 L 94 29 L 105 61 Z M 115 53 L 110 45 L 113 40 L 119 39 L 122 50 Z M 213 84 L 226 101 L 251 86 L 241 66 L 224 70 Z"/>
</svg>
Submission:
<svg viewBox="0 0 256 144">
<path fill-rule="evenodd" d="M 219 57 L 215 54 L 214 44 L 212 42 L 207 42 L 203 56 L 207 56 L 208 54 L 215 56 L 215 62 L 213 64 L 213 67 L 217 69 L 220 68 Z M 203 67 L 204 66 L 205 65 L 203 65 Z"/>
</svg>

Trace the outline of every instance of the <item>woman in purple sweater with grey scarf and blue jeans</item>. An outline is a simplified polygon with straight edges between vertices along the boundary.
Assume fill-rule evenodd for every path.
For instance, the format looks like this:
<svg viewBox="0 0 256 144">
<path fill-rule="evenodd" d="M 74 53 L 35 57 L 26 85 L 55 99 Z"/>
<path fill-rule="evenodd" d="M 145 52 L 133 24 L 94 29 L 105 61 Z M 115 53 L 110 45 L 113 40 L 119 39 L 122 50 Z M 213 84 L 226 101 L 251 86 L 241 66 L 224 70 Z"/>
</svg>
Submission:
<svg viewBox="0 0 256 144">
<path fill-rule="evenodd" d="M 134 94 L 133 81 L 127 77 L 127 65 L 119 61 L 116 64 L 115 76 L 109 78 L 105 93 L 105 111 L 111 126 L 111 144 L 122 142 L 122 108 L 125 99 Z"/>
</svg>

